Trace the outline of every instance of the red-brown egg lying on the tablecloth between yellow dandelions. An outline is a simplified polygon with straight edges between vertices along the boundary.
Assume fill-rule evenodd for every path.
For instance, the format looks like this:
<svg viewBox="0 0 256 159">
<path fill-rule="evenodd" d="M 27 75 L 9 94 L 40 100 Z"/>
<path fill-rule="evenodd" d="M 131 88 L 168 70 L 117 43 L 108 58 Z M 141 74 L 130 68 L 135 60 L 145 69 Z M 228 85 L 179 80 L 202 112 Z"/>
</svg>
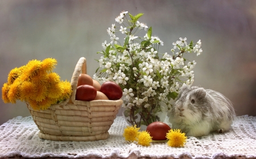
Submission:
<svg viewBox="0 0 256 159">
<path fill-rule="evenodd" d="M 146 129 L 152 140 L 167 140 L 166 134 L 169 130 L 171 130 L 170 126 L 163 122 L 152 122 Z"/>
</svg>

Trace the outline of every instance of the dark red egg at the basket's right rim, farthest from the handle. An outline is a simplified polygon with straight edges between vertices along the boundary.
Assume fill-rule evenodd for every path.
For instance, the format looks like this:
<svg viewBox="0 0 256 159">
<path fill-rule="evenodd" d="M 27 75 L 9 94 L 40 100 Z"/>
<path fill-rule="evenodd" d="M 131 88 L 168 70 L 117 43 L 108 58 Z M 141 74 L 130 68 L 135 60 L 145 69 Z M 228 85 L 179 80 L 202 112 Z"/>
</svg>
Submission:
<svg viewBox="0 0 256 159">
<path fill-rule="evenodd" d="M 104 93 L 109 100 L 119 100 L 123 96 L 122 88 L 113 81 L 106 81 L 101 85 L 101 92 Z"/>
</svg>

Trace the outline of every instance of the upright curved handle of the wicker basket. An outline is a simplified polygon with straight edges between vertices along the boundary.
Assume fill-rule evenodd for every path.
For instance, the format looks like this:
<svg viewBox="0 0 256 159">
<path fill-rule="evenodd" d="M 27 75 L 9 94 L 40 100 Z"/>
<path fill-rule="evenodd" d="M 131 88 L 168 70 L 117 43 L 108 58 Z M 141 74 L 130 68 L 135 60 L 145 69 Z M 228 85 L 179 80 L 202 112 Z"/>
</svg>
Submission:
<svg viewBox="0 0 256 159">
<path fill-rule="evenodd" d="M 77 83 L 79 79 L 80 74 L 86 74 L 86 58 L 81 57 L 79 61 L 76 64 L 75 71 L 73 72 L 72 78 L 71 78 L 71 86 L 72 86 L 72 94 L 69 99 L 69 104 L 74 104 L 76 100 L 76 88 L 77 88 Z"/>
</svg>

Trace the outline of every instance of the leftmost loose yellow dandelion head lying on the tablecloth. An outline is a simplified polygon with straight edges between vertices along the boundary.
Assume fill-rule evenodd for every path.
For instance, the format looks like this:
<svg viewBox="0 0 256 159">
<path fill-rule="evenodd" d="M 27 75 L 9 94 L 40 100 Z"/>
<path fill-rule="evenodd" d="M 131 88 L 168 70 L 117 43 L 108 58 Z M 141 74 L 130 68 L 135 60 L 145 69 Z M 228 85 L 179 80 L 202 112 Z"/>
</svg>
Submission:
<svg viewBox="0 0 256 159">
<path fill-rule="evenodd" d="M 127 126 L 123 132 L 123 137 L 125 137 L 126 141 L 137 141 L 137 138 L 139 136 L 139 129 L 136 125 L 134 126 Z"/>
</svg>

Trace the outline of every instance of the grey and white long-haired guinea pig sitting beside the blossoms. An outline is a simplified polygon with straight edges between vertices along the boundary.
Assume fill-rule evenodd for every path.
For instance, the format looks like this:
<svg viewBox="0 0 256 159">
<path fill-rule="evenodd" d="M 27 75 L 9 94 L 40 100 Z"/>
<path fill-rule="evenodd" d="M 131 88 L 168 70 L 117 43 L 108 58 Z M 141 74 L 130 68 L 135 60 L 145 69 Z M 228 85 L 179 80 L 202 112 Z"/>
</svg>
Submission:
<svg viewBox="0 0 256 159">
<path fill-rule="evenodd" d="M 183 85 L 168 116 L 172 128 L 200 137 L 228 131 L 236 114 L 232 102 L 221 93 Z"/>
</svg>

